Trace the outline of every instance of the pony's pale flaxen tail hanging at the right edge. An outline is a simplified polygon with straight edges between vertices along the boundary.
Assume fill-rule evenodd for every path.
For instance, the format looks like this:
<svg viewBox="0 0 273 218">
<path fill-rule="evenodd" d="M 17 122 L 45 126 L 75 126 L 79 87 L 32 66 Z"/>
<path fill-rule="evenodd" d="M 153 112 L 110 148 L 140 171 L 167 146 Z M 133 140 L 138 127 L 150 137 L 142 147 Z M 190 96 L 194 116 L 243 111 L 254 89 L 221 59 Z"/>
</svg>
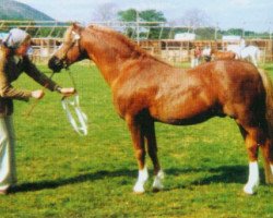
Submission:
<svg viewBox="0 0 273 218">
<path fill-rule="evenodd" d="M 273 85 L 270 76 L 264 70 L 259 69 L 259 73 L 262 77 L 263 86 L 265 89 L 265 118 L 268 121 L 269 136 L 271 140 L 273 140 Z"/>
</svg>

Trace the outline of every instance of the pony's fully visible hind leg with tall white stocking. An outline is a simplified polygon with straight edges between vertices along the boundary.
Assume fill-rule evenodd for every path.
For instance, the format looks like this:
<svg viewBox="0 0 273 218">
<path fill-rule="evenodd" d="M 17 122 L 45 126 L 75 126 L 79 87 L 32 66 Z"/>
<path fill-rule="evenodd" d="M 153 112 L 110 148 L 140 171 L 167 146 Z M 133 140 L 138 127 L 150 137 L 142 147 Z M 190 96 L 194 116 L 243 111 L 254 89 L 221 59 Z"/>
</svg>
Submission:
<svg viewBox="0 0 273 218">
<path fill-rule="evenodd" d="M 259 132 L 257 129 L 245 130 L 241 128 L 249 158 L 249 177 L 247 184 L 244 186 L 244 192 L 247 194 L 254 194 L 260 182 L 258 166 Z"/>
</svg>

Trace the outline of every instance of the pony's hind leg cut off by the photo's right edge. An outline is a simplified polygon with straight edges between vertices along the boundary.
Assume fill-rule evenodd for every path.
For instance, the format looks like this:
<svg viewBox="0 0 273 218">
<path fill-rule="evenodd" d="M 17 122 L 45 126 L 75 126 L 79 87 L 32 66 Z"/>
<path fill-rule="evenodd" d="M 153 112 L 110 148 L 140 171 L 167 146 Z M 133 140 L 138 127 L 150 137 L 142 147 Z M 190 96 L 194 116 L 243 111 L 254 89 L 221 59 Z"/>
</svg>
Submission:
<svg viewBox="0 0 273 218">
<path fill-rule="evenodd" d="M 261 145 L 263 158 L 264 158 L 264 174 L 265 183 L 273 184 L 273 142 L 266 140 L 263 145 Z"/>
</svg>

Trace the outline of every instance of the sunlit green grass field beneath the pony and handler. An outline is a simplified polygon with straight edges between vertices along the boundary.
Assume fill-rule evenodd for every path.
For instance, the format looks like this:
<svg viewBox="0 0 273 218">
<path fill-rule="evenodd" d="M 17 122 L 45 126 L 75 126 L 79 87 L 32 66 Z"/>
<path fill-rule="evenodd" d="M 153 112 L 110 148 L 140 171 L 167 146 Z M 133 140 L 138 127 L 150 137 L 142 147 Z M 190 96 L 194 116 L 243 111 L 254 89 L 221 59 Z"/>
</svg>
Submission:
<svg viewBox="0 0 273 218">
<path fill-rule="evenodd" d="M 272 66 L 264 66 L 271 75 Z M 152 192 L 149 160 L 147 192 L 133 194 L 136 162 L 109 87 L 95 66 L 76 64 L 71 71 L 90 119 L 88 135 L 73 132 L 57 93 L 47 92 L 28 118 L 22 114 L 29 104 L 16 101 L 19 183 L 14 193 L 0 196 L 0 217 L 273 217 L 273 187 L 264 185 L 262 171 L 258 194 L 242 193 L 247 154 L 228 118 L 183 128 L 157 123 L 165 191 Z M 67 73 L 54 78 L 72 85 Z M 24 75 L 15 86 L 39 87 Z"/>
</svg>

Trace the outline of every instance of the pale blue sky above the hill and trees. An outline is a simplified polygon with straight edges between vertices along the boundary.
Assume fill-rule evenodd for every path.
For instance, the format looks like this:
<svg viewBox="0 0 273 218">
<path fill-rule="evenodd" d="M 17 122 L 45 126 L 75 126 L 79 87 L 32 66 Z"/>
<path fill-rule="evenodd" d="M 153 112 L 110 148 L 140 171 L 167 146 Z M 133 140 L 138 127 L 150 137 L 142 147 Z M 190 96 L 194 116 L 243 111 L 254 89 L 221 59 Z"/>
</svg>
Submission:
<svg viewBox="0 0 273 218">
<path fill-rule="evenodd" d="M 167 21 L 179 21 L 189 10 L 201 10 L 212 26 L 242 27 L 248 31 L 273 29 L 273 0 L 17 0 L 57 21 L 88 24 L 99 5 L 114 2 L 118 10 L 155 9 Z"/>
</svg>

